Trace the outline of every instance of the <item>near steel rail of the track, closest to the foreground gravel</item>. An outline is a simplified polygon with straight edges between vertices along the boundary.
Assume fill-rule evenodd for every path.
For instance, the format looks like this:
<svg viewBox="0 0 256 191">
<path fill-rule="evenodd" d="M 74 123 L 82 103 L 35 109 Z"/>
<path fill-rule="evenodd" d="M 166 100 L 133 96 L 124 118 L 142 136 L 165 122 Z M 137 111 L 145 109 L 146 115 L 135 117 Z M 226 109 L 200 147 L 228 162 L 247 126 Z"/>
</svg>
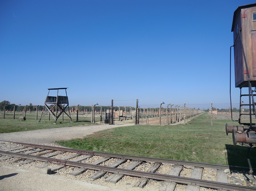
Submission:
<svg viewBox="0 0 256 191">
<path fill-rule="evenodd" d="M 7 155 L 7 156 L 13 156 L 13 157 L 19 157 L 23 159 L 34 159 L 38 161 L 44 161 L 44 162 L 54 162 L 57 164 L 63 164 L 66 166 L 73 166 L 73 167 L 79 167 L 79 168 L 87 168 L 95 171 L 106 171 L 109 173 L 119 173 L 123 175 L 128 176 L 135 176 L 135 177 L 145 177 L 149 179 L 154 180 L 162 180 L 162 181 L 169 181 L 169 182 L 176 182 L 180 184 L 188 184 L 193 186 L 202 186 L 206 188 L 212 188 L 212 189 L 223 189 L 228 191 L 255 191 L 256 189 L 247 187 L 247 186 L 240 186 L 236 184 L 226 184 L 221 182 L 213 182 L 213 181 L 207 181 L 207 180 L 199 180 L 199 179 L 193 179 L 188 177 L 179 177 L 179 176 L 172 176 L 172 175 L 163 175 L 163 174 L 157 174 L 157 173 L 148 173 L 148 172 L 142 172 L 142 171 L 133 171 L 123 168 L 113 168 L 108 166 L 100 166 L 100 165 L 94 165 L 94 164 L 86 164 L 81 162 L 74 162 L 74 161 L 67 161 L 62 159 L 54 159 L 49 157 L 41 157 L 36 155 L 27 155 L 23 153 L 15 153 L 15 152 L 8 152 L 8 151 L 0 151 L 0 154 Z"/>
</svg>

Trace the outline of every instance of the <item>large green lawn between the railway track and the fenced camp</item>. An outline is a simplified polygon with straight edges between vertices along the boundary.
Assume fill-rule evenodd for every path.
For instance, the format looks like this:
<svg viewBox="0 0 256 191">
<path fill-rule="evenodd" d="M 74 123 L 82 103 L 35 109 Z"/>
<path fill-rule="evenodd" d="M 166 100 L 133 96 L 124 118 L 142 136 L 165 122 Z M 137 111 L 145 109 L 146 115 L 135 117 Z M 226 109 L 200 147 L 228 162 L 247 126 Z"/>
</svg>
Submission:
<svg viewBox="0 0 256 191">
<path fill-rule="evenodd" d="M 248 148 L 233 146 L 232 134 L 227 136 L 225 132 L 226 123 L 238 125 L 231 120 L 217 119 L 211 125 L 210 115 L 204 113 L 186 125 L 116 127 L 85 139 L 58 143 L 83 150 L 247 167 Z M 250 151 L 254 168 L 255 151 L 255 148 Z"/>
</svg>

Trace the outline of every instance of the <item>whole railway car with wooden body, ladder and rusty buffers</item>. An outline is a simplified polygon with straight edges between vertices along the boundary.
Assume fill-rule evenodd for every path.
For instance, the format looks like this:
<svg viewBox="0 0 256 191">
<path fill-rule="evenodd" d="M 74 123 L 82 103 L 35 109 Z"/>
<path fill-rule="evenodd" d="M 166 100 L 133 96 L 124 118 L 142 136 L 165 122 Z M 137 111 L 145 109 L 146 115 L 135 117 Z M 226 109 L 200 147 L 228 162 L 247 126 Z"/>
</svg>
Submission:
<svg viewBox="0 0 256 191">
<path fill-rule="evenodd" d="M 237 143 L 248 146 L 247 161 L 249 173 L 252 174 L 252 166 L 249 158 L 250 149 L 256 145 L 256 3 L 242 5 L 238 7 L 233 16 L 231 32 L 234 38 L 234 62 L 235 62 L 235 87 L 240 88 L 240 115 L 239 123 L 241 126 L 228 126 L 226 124 L 226 134 L 232 133 L 234 146 Z M 231 47 L 230 47 L 230 69 L 231 69 Z M 230 70 L 231 71 L 231 70 Z M 248 94 L 242 94 L 242 88 L 248 88 Z M 254 89 L 253 89 L 254 87 Z M 231 72 L 230 72 L 231 89 Z M 249 103 L 243 103 L 247 100 Z M 249 107 L 249 114 L 243 114 L 243 106 Z M 230 107 L 231 90 L 230 90 Z M 243 115 L 249 115 L 249 123 L 243 121 Z M 232 112 L 231 112 L 231 119 Z"/>
</svg>

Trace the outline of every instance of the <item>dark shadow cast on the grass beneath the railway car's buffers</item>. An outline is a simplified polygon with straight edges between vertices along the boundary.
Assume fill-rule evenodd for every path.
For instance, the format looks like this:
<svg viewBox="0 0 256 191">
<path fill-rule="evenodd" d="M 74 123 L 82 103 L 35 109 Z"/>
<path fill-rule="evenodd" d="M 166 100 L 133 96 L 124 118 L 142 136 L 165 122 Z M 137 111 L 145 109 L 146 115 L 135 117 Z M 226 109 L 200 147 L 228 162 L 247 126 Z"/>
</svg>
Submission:
<svg viewBox="0 0 256 191">
<path fill-rule="evenodd" d="M 230 166 L 242 166 L 249 168 L 247 162 L 247 151 L 248 147 L 236 145 L 227 145 L 226 144 L 226 162 Z M 251 148 L 249 152 L 250 161 L 252 168 L 256 168 L 256 149 Z M 255 170 L 254 170 L 255 171 Z"/>
</svg>

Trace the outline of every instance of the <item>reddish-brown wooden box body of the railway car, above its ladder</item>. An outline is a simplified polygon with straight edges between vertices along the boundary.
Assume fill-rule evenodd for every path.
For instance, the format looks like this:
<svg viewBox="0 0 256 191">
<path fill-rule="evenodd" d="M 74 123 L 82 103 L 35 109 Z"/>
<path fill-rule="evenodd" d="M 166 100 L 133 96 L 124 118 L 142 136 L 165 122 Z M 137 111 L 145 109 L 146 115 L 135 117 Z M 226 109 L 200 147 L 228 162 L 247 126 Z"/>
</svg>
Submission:
<svg viewBox="0 0 256 191">
<path fill-rule="evenodd" d="M 251 86 L 256 87 L 256 3 L 235 10 L 231 32 L 234 36 L 235 86 L 248 87 L 243 45 Z"/>
</svg>

